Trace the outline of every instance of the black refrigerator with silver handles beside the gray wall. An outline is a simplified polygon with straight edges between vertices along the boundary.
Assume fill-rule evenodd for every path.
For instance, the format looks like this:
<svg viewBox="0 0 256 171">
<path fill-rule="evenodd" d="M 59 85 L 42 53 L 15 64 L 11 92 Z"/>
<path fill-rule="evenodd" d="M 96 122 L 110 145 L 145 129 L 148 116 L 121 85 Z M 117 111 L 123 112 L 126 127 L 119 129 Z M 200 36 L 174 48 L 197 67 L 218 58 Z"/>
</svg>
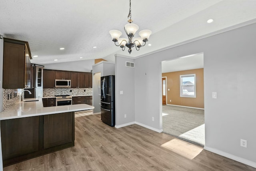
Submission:
<svg viewBox="0 0 256 171">
<path fill-rule="evenodd" d="M 101 120 L 110 125 L 115 125 L 115 76 L 101 77 Z"/>
</svg>

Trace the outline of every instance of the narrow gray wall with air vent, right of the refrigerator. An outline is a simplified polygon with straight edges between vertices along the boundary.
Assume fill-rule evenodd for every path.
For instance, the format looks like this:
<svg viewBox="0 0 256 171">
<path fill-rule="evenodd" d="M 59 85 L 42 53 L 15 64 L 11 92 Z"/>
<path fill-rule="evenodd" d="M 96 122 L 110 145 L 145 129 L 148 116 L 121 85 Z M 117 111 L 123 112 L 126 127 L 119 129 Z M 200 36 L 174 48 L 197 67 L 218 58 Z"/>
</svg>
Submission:
<svg viewBox="0 0 256 171">
<path fill-rule="evenodd" d="M 126 67 L 126 61 L 134 62 L 134 59 L 116 55 L 115 62 L 118 65 L 115 66 L 115 127 L 117 128 L 135 121 L 134 68 Z M 123 94 L 120 94 L 120 91 L 123 91 Z M 125 114 L 126 118 L 124 118 Z"/>
</svg>

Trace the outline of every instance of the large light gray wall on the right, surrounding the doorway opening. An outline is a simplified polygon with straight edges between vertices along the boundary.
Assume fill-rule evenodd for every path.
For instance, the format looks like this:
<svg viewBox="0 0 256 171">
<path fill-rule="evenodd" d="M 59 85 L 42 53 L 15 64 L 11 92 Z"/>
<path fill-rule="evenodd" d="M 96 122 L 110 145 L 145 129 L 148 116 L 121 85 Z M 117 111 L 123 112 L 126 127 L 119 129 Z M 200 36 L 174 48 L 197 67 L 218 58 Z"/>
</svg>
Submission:
<svg viewBox="0 0 256 171">
<path fill-rule="evenodd" d="M 162 129 L 160 62 L 203 52 L 205 149 L 256 167 L 255 30 L 256 24 L 251 24 L 137 58 L 135 74 L 119 69 L 118 75 L 135 76 L 135 121 Z M 122 61 L 117 58 L 116 65 Z M 131 100 L 124 98 L 122 104 Z M 240 139 L 247 140 L 247 148 L 240 146 Z"/>
</svg>

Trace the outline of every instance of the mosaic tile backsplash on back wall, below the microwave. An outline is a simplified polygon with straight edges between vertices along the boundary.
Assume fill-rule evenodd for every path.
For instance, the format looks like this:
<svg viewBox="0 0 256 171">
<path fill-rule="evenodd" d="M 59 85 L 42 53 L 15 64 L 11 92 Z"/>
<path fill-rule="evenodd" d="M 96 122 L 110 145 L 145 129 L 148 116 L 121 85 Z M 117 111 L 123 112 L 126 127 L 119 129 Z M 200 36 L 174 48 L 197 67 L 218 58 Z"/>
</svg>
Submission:
<svg viewBox="0 0 256 171">
<path fill-rule="evenodd" d="M 72 92 L 70 92 L 70 90 Z M 92 95 L 92 88 L 44 88 L 43 97 L 54 95 Z"/>
</svg>

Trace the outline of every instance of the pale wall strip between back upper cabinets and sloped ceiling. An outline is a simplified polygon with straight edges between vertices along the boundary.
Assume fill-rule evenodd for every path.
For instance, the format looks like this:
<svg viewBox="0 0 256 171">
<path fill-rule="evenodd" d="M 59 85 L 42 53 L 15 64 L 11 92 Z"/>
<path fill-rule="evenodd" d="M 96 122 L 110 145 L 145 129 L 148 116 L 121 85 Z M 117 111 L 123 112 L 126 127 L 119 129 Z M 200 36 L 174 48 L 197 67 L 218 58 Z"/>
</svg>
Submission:
<svg viewBox="0 0 256 171">
<path fill-rule="evenodd" d="M 73 62 L 45 64 L 44 69 L 91 72 L 93 65 L 94 65 L 94 60 L 80 60 L 80 61 L 73 61 Z"/>
</svg>

